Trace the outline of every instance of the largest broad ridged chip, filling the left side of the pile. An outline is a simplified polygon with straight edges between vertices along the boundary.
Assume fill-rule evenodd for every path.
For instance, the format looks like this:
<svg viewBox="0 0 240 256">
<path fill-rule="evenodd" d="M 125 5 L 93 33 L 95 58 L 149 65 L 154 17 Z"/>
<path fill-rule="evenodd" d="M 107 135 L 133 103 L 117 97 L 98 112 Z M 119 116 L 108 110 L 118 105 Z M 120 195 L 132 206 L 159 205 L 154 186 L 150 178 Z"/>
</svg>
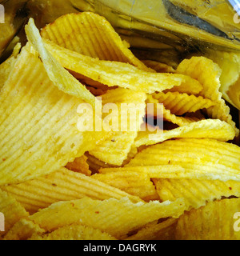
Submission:
<svg viewBox="0 0 240 256">
<path fill-rule="evenodd" d="M 103 131 L 78 130 L 80 103 L 50 82 L 27 46 L 22 49 L 0 94 L 0 185 L 49 174 L 106 138 Z"/>
</svg>

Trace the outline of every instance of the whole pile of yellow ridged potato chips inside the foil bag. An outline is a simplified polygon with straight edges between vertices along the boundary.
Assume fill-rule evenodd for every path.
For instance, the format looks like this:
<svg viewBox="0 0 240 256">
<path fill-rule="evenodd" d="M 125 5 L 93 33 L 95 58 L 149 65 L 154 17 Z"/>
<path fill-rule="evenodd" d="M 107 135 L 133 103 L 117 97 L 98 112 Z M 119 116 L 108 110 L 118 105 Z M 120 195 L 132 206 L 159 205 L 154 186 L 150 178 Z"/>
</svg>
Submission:
<svg viewBox="0 0 240 256">
<path fill-rule="evenodd" d="M 0 238 L 239 239 L 239 130 L 218 64 L 140 61 L 89 12 L 40 32 L 30 18 L 26 46 L 0 65 Z M 139 104 L 137 129 L 79 129 L 79 106 L 106 118 L 98 97 Z M 141 129 L 158 118 L 147 104 L 162 106 L 163 130 Z"/>
</svg>

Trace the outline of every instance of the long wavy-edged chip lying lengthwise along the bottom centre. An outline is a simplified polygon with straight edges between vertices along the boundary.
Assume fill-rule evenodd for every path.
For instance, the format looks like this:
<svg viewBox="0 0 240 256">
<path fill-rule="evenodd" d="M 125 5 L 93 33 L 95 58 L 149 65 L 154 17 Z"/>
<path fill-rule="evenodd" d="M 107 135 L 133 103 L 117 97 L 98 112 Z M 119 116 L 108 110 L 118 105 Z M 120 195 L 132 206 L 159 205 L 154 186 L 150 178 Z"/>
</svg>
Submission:
<svg viewBox="0 0 240 256">
<path fill-rule="evenodd" d="M 110 198 L 104 201 L 82 198 L 69 202 L 56 202 L 30 216 L 46 231 L 78 223 L 106 232 L 115 238 L 126 238 L 131 230 L 140 228 L 159 218 L 178 218 L 185 210 L 183 199 L 175 202 L 130 202 Z M 57 217 L 58 216 L 58 217 Z M 56 218 L 57 217 L 57 218 Z"/>
</svg>

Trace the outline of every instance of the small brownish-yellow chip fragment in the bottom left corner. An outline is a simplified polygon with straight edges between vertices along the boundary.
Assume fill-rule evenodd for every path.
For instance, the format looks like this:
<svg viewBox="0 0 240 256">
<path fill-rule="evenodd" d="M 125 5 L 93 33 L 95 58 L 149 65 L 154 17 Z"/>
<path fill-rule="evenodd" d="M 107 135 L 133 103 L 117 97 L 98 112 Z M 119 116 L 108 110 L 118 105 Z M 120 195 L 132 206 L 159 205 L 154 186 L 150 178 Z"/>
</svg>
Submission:
<svg viewBox="0 0 240 256">
<path fill-rule="evenodd" d="M 6 233 L 6 236 L 3 240 L 26 240 L 30 238 L 35 233 L 44 232 L 38 224 L 31 222 L 28 219 L 22 218 Z"/>
</svg>

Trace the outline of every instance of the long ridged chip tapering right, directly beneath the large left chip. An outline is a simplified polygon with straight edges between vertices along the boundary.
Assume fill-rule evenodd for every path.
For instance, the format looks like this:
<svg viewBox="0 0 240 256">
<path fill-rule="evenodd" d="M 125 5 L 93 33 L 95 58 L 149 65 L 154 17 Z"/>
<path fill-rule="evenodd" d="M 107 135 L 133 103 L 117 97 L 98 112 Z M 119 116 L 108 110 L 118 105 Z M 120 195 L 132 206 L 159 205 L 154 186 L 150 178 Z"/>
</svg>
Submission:
<svg viewBox="0 0 240 256">
<path fill-rule="evenodd" d="M 133 202 L 142 201 L 140 198 L 126 194 L 115 187 L 84 174 L 61 168 L 52 174 L 27 182 L 2 186 L 2 190 L 16 198 L 31 214 L 50 206 L 54 202 L 84 197 L 98 200 L 129 197 Z"/>
</svg>

